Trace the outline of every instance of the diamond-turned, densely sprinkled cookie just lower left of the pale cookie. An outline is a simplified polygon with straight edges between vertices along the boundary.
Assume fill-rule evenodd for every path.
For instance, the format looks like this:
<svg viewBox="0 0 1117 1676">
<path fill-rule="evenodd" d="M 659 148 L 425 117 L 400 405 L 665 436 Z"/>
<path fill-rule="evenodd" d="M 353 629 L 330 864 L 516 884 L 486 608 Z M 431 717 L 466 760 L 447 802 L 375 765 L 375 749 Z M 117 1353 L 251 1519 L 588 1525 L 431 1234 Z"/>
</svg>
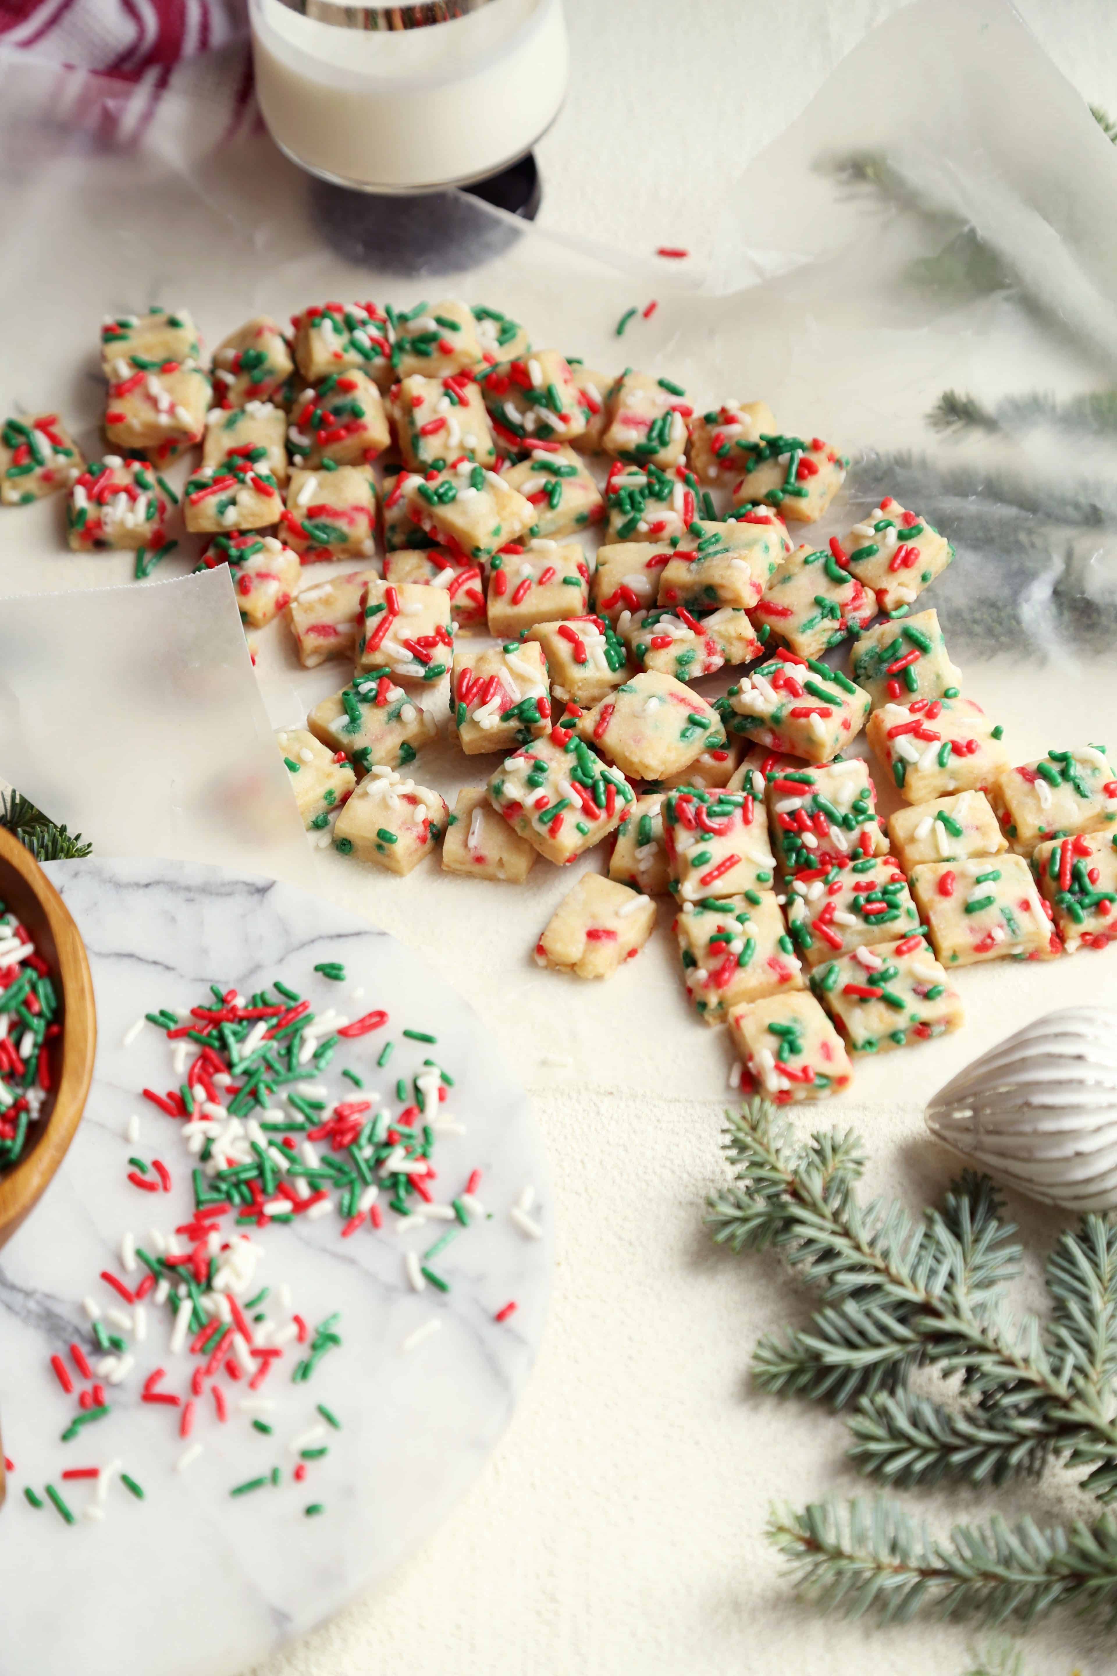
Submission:
<svg viewBox="0 0 1117 1676">
<path fill-rule="evenodd" d="M 558 744 L 553 732 L 506 758 L 487 794 L 512 830 L 559 866 L 608 838 L 635 803 L 623 774 L 581 739 Z"/>
</svg>

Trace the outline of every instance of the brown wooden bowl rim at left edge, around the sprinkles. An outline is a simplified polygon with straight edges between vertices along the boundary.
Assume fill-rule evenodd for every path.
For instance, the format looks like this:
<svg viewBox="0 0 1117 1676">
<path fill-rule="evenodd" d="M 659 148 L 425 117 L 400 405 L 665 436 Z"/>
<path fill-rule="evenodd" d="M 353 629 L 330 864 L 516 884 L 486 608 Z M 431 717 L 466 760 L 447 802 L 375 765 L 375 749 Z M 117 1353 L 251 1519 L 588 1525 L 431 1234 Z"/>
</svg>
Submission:
<svg viewBox="0 0 1117 1676">
<path fill-rule="evenodd" d="M 28 1146 L 12 1170 L 0 1172 L 0 1245 L 27 1217 L 62 1163 L 85 1108 L 97 1048 L 97 1012 L 89 960 L 62 897 L 44 870 L 0 828 L 0 902 L 12 908 L 47 962 L 59 996 L 62 1031 L 47 1044 L 52 1089 Z M 0 1443 L 0 1503 L 3 1502 Z"/>
</svg>

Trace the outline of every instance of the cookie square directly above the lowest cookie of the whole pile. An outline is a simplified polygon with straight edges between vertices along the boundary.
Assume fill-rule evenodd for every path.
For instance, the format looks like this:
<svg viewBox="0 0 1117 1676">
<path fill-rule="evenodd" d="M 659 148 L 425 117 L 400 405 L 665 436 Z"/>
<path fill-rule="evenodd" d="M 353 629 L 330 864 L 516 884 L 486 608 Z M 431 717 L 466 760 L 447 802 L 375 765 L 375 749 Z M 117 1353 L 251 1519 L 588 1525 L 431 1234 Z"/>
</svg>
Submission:
<svg viewBox="0 0 1117 1676">
<path fill-rule="evenodd" d="M 675 937 L 690 1004 L 705 1024 L 723 1024 L 732 1007 L 802 989 L 802 962 L 770 892 L 683 902 Z"/>
</svg>

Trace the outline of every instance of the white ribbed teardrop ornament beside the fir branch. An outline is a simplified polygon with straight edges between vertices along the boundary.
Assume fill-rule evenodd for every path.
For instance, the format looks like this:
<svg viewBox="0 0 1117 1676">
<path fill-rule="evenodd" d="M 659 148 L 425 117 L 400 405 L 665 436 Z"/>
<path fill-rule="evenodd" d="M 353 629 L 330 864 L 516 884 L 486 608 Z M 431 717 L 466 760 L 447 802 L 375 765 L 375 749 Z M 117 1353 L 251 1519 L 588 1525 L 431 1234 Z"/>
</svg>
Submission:
<svg viewBox="0 0 1117 1676">
<path fill-rule="evenodd" d="M 926 1123 L 1030 1198 L 1117 1208 L 1117 1012 L 1067 1007 L 1027 1024 L 941 1088 Z"/>
</svg>

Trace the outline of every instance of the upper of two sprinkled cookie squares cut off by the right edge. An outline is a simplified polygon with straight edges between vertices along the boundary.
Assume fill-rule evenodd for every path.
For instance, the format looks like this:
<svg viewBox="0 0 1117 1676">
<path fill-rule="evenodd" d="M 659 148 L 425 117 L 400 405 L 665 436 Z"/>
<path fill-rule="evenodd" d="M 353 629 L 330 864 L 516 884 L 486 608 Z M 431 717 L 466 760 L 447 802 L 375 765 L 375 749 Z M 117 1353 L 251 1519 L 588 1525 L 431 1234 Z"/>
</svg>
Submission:
<svg viewBox="0 0 1117 1676">
<path fill-rule="evenodd" d="M 1000 774 L 990 801 L 1017 855 L 1050 838 L 1105 831 L 1117 823 L 1117 771 L 1100 746 L 1048 751 Z"/>
</svg>

